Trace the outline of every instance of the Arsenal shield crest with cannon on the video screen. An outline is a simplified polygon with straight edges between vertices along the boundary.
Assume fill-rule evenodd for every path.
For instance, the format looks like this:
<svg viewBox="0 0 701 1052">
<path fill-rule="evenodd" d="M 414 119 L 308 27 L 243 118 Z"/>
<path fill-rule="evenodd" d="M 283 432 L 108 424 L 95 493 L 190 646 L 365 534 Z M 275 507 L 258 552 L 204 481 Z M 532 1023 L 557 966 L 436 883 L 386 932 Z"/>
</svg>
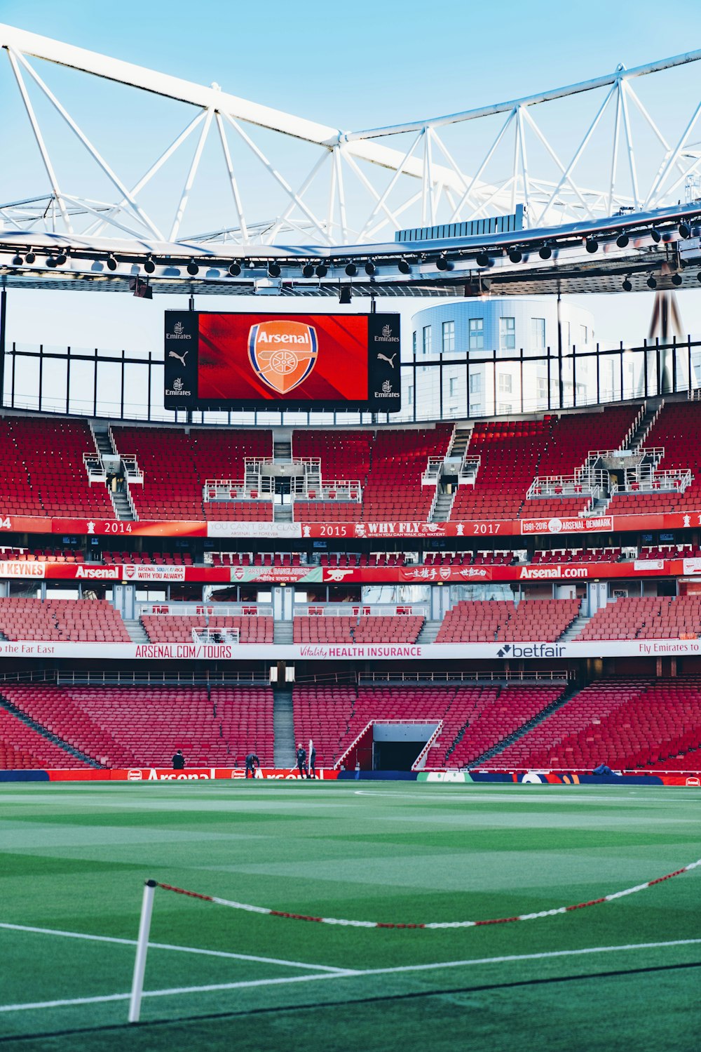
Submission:
<svg viewBox="0 0 701 1052">
<path fill-rule="evenodd" d="M 279 394 L 288 394 L 316 364 L 316 329 L 304 322 L 275 319 L 251 325 L 248 358 L 256 376 Z"/>
</svg>

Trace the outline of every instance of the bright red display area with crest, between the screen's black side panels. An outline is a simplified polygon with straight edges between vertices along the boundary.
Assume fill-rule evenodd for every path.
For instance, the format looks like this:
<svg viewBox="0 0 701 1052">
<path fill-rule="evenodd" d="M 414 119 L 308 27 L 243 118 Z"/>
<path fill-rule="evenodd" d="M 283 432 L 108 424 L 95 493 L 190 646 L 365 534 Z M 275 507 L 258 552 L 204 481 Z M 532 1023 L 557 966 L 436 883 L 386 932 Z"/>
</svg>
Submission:
<svg viewBox="0 0 701 1052">
<path fill-rule="evenodd" d="M 198 398 L 363 402 L 367 315 L 199 316 Z"/>
</svg>

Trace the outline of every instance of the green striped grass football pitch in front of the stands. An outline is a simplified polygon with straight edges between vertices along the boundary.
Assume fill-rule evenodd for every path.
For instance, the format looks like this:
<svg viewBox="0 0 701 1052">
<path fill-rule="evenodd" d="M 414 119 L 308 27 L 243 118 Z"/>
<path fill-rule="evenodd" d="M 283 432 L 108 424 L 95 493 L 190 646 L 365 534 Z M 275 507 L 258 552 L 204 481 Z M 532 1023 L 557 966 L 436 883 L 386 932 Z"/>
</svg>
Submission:
<svg viewBox="0 0 701 1052">
<path fill-rule="evenodd" d="M 694 789 L 416 783 L 3 784 L 0 1052 L 701 1048 Z"/>
</svg>

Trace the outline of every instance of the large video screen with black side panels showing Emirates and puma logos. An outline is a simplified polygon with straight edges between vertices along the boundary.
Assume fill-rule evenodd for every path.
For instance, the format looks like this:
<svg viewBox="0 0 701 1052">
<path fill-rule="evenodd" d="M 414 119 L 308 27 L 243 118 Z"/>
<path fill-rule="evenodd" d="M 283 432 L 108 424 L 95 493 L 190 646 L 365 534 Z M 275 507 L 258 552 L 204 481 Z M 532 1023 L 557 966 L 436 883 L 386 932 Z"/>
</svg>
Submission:
<svg viewBox="0 0 701 1052">
<path fill-rule="evenodd" d="M 166 409 L 401 408 L 398 315 L 167 310 Z"/>
</svg>

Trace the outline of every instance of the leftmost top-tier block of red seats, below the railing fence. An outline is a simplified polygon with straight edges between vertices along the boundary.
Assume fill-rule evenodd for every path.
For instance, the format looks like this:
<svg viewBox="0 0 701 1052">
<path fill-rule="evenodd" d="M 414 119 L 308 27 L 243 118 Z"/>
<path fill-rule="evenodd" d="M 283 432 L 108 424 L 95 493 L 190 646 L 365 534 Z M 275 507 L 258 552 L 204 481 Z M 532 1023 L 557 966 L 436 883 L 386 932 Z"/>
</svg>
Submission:
<svg viewBox="0 0 701 1052">
<path fill-rule="evenodd" d="M 3 513 L 116 519 L 105 484 L 89 484 L 83 453 L 97 456 L 87 423 L 27 417 L 0 420 Z"/>
</svg>

